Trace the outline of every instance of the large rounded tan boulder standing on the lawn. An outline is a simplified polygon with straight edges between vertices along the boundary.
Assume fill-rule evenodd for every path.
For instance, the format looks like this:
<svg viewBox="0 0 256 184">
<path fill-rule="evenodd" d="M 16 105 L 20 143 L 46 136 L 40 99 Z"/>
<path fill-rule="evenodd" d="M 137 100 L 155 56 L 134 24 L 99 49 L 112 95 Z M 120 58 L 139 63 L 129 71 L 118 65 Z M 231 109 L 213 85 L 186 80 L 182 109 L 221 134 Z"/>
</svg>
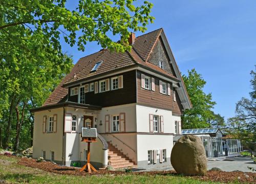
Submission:
<svg viewBox="0 0 256 184">
<path fill-rule="evenodd" d="M 170 162 L 175 171 L 184 175 L 206 175 L 207 158 L 201 139 L 184 135 L 174 145 Z"/>
</svg>

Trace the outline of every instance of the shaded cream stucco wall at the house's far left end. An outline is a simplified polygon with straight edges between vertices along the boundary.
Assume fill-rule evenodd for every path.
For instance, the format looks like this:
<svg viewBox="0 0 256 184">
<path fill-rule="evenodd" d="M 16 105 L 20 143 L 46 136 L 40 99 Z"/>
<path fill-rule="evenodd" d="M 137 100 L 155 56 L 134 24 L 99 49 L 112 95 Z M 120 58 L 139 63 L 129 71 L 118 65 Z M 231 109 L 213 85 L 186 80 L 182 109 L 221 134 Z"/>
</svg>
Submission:
<svg viewBox="0 0 256 184">
<path fill-rule="evenodd" d="M 57 114 L 57 132 L 42 133 L 43 117 Z M 55 126 L 55 125 L 54 125 Z M 42 110 L 34 113 L 33 158 L 42 157 L 46 151 L 46 159 L 50 160 L 50 151 L 54 151 L 54 159 L 62 160 L 63 108 Z"/>
</svg>

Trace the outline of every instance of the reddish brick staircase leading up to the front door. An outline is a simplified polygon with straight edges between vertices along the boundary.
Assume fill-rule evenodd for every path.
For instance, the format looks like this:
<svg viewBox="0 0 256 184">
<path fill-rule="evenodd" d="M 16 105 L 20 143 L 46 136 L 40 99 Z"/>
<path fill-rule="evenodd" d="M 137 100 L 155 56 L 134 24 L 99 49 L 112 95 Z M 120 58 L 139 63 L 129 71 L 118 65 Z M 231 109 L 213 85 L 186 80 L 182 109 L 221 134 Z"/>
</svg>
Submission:
<svg viewBox="0 0 256 184">
<path fill-rule="evenodd" d="M 112 166 L 114 169 L 117 168 L 136 168 L 132 160 L 124 155 L 120 150 L 118 150 L 115 146 L 113 146 L 110 142 L 109 145 L 109 162 L 108 165 Z"/>
</svg>

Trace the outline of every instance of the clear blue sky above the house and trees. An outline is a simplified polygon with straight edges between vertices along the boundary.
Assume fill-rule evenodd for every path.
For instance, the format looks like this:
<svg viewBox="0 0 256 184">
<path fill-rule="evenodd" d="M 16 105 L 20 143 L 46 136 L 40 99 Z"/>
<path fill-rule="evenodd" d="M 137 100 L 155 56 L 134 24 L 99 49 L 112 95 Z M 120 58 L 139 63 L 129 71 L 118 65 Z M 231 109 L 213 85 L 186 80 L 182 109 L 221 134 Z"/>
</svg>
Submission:
<svg viewBox="0 0 256 184">
<path fill-rule="evenodd" d="M 205 93 L 217 102 L 215 113 L 234 116 L 236 102 L 249 96 L 249 73 L 256 64 L 256 1 L 148 1 L 156 19 L 147 32 L 163 28 L 181 73 L 196 68 L 207 82 Z M 67 2 L 67 8 L 74 6 Z M 80 52 L 63 42 L 62 49 L 76 63 L 100 46 L 88 43 Z"/>
</svg>

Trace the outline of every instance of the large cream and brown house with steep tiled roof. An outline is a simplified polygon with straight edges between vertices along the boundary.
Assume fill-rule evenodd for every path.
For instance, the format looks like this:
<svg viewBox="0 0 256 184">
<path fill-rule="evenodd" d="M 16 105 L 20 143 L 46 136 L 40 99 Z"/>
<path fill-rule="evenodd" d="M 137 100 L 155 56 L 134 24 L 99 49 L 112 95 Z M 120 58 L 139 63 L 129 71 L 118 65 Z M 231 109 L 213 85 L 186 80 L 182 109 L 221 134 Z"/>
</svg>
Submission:
<svg viewBox="0 0 256 184">
<path fill-rule="evenodd" d="M 130 52 L 80 58 L 44 105 L 34 108 L 33 157 L 72 166 L 87 160 L 81 127 L 97 128 L 97 168 L 170 165 L 181 114 L 191 108 L 163 29 L 129 39 Z"/>
</svg>

